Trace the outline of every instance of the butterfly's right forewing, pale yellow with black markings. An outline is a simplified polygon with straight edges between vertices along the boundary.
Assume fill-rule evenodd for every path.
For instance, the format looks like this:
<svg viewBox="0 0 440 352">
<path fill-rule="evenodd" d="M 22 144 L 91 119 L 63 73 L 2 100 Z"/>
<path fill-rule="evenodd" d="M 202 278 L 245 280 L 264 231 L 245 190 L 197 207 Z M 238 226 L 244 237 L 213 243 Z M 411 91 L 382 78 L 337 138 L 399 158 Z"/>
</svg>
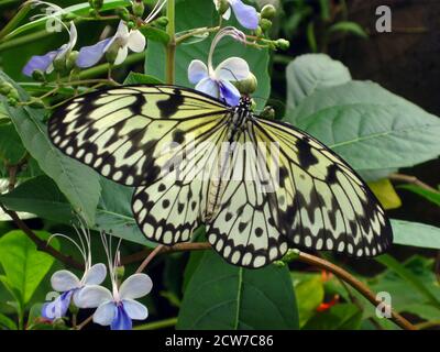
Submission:
<svg viewBox="0 0 440 352">
<path fill-rule="evenodd" d="M 376 197 L 341 157 L 312 136 L 273 120 L 254 120 L 258 141 L 279 143 L 278 229 L 296 246 L 377 255 L 393 241 Z"/>
</svg>

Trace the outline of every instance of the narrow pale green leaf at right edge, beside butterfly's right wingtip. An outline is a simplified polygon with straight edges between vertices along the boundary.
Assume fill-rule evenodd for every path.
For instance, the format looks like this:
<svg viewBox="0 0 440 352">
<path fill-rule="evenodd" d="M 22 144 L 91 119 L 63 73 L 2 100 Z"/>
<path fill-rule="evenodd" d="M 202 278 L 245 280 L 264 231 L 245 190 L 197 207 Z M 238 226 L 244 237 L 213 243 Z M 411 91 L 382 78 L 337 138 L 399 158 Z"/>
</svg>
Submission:
<svg viewBox="0 0 440 352">
<path fill-rule="evenodd" d="M 440 250 L 440 229 L 413 221 L 392 219 L 395 244 Z"/>
</svg>

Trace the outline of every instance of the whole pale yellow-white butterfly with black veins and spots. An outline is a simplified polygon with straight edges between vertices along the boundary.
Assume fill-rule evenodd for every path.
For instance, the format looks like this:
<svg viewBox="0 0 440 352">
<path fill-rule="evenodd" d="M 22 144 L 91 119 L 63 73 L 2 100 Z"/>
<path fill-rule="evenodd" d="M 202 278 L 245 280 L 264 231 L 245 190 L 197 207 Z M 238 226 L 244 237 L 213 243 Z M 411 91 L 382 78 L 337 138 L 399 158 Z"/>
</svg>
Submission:
<svg viewBox="0 0 440 352">
<path fill-rule="evenodd" d="M 256 268 L 290 246 L 373 256 L 392 243 L 375 196 L 341 157 L 251 99 L 229 107 L 166 85 L 78 96 L 48 120 L 52 142 L 102 176 L 134 188 L 144 235 L 172 245 L 206 226 L 231 264 Z"/>
</svg>

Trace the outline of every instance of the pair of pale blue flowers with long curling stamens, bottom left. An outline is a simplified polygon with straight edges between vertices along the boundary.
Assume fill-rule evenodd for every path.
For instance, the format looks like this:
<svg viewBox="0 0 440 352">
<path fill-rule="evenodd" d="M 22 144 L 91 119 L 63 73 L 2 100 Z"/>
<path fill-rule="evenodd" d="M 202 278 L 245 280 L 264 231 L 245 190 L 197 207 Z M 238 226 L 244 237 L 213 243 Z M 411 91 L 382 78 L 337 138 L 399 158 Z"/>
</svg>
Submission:
<svg viewBox="0 0 440 352">
<path fill-rule="evenodd" d="M 108 257 L 108 266 L 112 290 L 100 286 L 107 276 L 107 267 L 102 263 L 91 264 L 90 232 L 81 224 L 77 229 L 79 243 L 64 234 L 54 234 L 72 241 L 80 251 L 85 271 L 79 279 L 74 273 L 62 270 L 55 272 L 51 277 L 54 290 L 59 295 L 42 308 L 42 317 L 55 320 L 67 315 L 69 307 L 97 308 L 94 314 L 94 322 L 101 326 L 110 326 L 112 330 L 130 330 L 132 320 L 144 320 L 148 316 L 146 307 L 135 299 L 147 295 L 153 283 L 148 275 L 136 273 L 129 276 L 119 285 L 118 267 L 119 260 L 114 260 L 111 253 L 111 238 L 108 240 L 101 234 Z M 119 257 L 119 245 L 117 255 Z"/>
</svg>

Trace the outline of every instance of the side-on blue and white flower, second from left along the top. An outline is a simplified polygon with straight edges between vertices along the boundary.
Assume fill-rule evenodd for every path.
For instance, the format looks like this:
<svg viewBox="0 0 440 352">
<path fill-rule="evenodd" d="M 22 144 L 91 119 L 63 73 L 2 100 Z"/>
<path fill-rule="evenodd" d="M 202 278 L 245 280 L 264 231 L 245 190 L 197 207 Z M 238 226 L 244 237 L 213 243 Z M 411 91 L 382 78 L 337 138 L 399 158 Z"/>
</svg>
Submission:
<svg viewBox="0 0 440 352">
<path fill-rule="evenodd" d="M 111 62 L 114 65 L 122 64 L 129 48 L 132 52 L 141 53 L 145 48 L 145 37 L 138 30 L 129 31 L 123 21 L 119 22 L 117 33 L 94 45 L 81 47 L 76 61 L 78 67 L 85 68 L 96 65 L 107 53 L 113 54 Z"/>
</svg>

